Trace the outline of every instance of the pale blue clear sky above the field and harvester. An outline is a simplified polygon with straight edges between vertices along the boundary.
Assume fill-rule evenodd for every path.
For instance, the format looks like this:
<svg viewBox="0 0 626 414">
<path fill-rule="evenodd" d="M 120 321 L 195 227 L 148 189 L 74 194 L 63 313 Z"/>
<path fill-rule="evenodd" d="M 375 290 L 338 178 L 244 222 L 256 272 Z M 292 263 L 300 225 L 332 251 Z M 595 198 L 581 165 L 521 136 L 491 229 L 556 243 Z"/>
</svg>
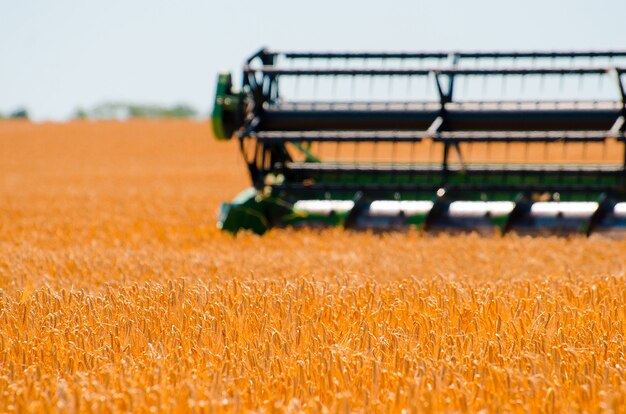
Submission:
<svg viewBox="0 0 626 414">
<path fill-rule="evenodd" d="M 103 101 L 208 112 L 216 73 L 296 50 L 626 49 L 626 1 L 0 1 L 0 112 Z"/>
</svg>

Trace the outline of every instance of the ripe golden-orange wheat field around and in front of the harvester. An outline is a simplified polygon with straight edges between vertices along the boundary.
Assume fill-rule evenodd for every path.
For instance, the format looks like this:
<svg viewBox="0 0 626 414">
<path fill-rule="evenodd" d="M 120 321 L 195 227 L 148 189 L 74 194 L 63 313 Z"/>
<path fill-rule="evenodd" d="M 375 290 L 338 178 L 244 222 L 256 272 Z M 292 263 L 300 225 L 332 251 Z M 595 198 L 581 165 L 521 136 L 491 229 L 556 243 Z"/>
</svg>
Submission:
<svg viewBox="0 0 626 414">
<path fill-rule="evenodd" d="M 231 237 L 234 145 L 0 123 L 0 411 L 621 411 L 626 242 Z"/>
</svg>

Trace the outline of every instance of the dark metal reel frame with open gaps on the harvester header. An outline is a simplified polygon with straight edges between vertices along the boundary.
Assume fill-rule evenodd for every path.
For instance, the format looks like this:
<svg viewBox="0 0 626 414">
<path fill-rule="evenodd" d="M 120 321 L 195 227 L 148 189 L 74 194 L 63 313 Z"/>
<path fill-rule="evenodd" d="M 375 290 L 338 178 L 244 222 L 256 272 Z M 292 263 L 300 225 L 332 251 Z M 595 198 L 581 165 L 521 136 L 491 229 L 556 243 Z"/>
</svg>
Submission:
<svg viewBox="0 0 626 414">
<path fill-rule="evenodd" d="M 624 51 L 547 52 L 278 52 L 261 49 L 243 68 L 241 93 L 237 98 L 236 136 L 257 194 L 269 202 L 255 226 L 283 222 L 276 217 L 290 213 L 300 199 L 351 199 L 355 210 L 346 217 L 327 220 L 355 221 L 356 210 L 371 200 L 434 200 L 425 226 L 445 215 L 453 200 L 516 200 L 503 224 L 507 231 L 525 218 L 540 194 L 558 201 L 601 200 L 586 227 L 600 225 L 612 206 L 626 200 L 626 67 L 540 65 L 517 67 L 517 59 L 547 62 L 555 59 L 626 58 Z M 434 59 L 445 66 L 395 68 L 282 67 L 283 60 L 404 60 Z M 465 60 L 507 60 L 508 67 L 467 68 Z M 611 102 L 457 102 L 455 82 L 461 77 L 492 76 L 612 76 L 620 100 Z M 280 100 L 284 77 L 429 77 L 438 100 L 415 102 L 303 102 Z M 222 88 L 224 89 L 224 88 Z M 216 106 L 217 106 L 216 100 Z M 221 102 L 221 101 L 220 101 Z M 232 108 L 227 108 L 234 110 Z M 227 125 L 230 127 L 230 125 Z M 441 143 L 440 161 L 420 164 L 329 163 L 310 150 L 314 143 Z M 473 143 L 604 143 L 616 139 L 624 146 L 620 165 L 478 165 L 463 161 L 461 144 Z M 292 159 L 293 149 L 304 162 Z M 290 151 L 291 149 L 291 151 Z M 456 153 L 459 161 L 451 162 Z M 249 199 L 249 203 L 253 203 Z M 285 204 L 286 203 L 286 204 Z M 358 208 L 357 208 L 358 207 Z M 258 207 L 255 207 L 258 208 Z M 279 211 L 280 213 L 276 213 Z M 248 213 L 246 213 L 248 214 Z M 256 213 L 255 213 L 256 214 Z M 294 216 L 295 217 L 295 216 Z M 319 217 L 318 217 L 319 219 Z M 255 219 L 256 220 L 256 219 Z M 326 220 L 326 219 L 325 219 Z M 260 224 L 259 224 L 260 223 Z"/>
</svg>

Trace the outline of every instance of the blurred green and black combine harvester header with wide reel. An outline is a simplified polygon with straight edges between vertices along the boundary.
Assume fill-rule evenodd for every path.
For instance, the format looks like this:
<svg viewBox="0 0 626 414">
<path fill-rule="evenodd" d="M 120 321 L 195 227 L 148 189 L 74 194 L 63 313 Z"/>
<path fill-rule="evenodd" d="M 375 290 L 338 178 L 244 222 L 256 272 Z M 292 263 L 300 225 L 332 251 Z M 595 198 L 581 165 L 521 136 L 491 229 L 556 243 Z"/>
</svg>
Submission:
<svg viewBox="0 0 626 414">
<path fill-rule="evenodd" d="M 621 234 L 624 72 L 626 51 L 263 49 L 240 91 L 218 80 L 253 184 L 219 226 Z"/>
</svg>

